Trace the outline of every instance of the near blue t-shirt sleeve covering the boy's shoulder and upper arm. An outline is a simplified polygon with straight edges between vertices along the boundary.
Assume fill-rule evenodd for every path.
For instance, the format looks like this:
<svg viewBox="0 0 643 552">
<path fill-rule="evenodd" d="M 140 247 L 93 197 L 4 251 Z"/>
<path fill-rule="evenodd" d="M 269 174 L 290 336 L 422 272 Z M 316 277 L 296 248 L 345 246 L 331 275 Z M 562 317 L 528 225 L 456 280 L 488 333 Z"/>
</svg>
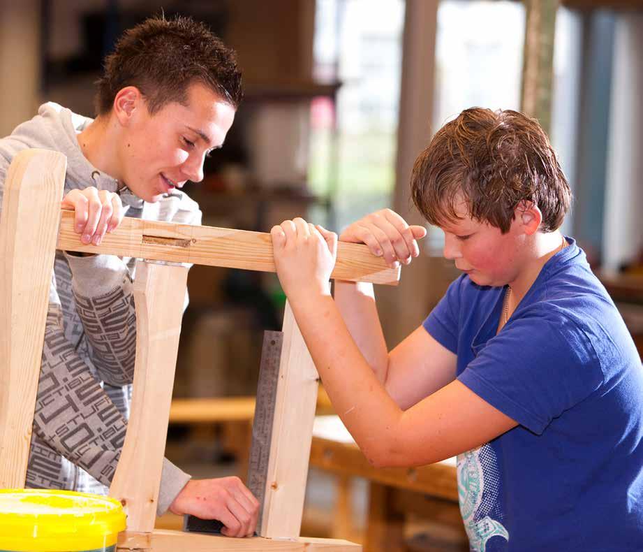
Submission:
<svg viewBox="0 0 643 552">
<path fill-rule="evenodd" d="M 539 312 L 510 321 L 458 379 L 540 435 L 603 384 L 603 370 L 582 328 Z"/>
</svg>

